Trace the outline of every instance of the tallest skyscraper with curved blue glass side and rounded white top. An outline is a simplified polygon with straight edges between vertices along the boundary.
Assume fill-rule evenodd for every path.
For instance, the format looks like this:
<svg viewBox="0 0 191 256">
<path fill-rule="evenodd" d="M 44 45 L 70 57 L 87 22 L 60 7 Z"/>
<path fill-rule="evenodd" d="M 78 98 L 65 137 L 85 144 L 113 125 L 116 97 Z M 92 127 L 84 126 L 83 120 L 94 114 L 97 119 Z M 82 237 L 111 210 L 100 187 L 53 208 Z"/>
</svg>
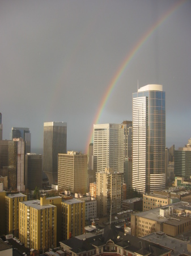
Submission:
<svg viewBox="0 0 191 256">
<path fill-rule="evenodd" d="M 146 85 L 133 93 L 133 189 L 165 188 L 165 92 Z"/>
</svg>

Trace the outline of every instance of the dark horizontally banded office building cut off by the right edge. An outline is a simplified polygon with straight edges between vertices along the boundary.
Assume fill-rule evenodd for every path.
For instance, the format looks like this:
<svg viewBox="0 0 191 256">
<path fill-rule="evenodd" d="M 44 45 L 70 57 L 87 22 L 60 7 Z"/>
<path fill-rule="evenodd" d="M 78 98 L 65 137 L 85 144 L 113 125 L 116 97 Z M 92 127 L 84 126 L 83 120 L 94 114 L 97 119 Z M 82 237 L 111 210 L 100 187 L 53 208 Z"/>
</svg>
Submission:
<svg viewBox="0 0 191 256">
<path fill-rule="evenodd" d="M 174 152 L 175 176 L 189 179 L 191 176 L 191 141 Z"/>
</svg>

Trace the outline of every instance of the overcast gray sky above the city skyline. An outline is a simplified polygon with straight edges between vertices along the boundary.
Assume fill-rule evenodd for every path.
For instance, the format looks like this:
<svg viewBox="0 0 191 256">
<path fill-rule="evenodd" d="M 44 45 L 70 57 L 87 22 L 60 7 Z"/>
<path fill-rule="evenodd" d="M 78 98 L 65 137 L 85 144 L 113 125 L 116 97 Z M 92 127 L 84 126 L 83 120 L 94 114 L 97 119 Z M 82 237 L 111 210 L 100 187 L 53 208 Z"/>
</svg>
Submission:
<svg viewBox="0 0 191 256">
<path fill-rule="evenodd" d="M 139 88 L 162 84 L 166 146 L 184 146 L 191 137 L 190 0 L 1 0 L 3 139 L 12 126 L 29 127 L 35 151 L 43 148 L 43 123 L 63 121 L 67 150 L 84 152 L 105 90 L 168 11 L 129 61 L 99 123 L 132 120 L 137 80 Z"/>
</svg>

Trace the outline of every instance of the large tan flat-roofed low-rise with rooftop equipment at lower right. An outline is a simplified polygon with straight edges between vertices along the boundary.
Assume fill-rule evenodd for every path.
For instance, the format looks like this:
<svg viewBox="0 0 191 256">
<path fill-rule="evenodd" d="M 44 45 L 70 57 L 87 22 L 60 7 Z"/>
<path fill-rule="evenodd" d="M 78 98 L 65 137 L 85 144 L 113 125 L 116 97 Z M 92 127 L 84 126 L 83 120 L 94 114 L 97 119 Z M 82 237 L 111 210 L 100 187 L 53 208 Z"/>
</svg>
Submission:
<svg viewBox="0 0 191 256">
<path fill-rule="evenodd" d="M 176 237 L 191 228 L 191 207 L 179 201 L 162 208 L 131 214 L 131 234 L 136 237 L 162 231 Z"/>
</svg>

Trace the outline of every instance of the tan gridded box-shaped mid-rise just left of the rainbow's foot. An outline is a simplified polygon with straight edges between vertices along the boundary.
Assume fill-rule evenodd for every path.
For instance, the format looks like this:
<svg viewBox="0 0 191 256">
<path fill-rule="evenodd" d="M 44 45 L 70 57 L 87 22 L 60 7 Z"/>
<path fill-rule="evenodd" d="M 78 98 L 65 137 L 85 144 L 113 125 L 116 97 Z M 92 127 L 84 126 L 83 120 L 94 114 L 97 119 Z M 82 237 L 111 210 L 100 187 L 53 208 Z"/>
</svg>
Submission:
<svg viewBox="0 0 191 256">
<path fill-rule="evenodd" d="M 87 189 L 87 155 L 77 151 L 58 154 L 58 189 L 74 193 Z"/>
</svg>

